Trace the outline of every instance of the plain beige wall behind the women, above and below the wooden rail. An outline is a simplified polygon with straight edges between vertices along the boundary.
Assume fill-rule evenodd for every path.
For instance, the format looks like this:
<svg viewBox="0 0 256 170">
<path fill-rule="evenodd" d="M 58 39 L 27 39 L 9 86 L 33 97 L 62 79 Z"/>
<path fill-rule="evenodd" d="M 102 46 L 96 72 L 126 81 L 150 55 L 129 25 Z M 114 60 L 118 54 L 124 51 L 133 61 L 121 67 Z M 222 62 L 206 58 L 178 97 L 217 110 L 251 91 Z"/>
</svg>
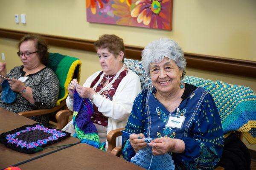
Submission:
<svg viewBox="0 0 256 170">
<path fill-rule="evenodd" d="M 0 28 L 96 40 L 101 34 L 116 34 L 127 45 L 145 46 L 151 40 L 169 37 L 185 52 L 256 61 L 255 0 L 174 0 L 173 30 L 87 23 L 85 0 L 0 0 Z M 27 24 L 16 24 L 15 14 L 26 14 Z M 0 38 L 0 53 L 6 54 L 8 70 L 21 62 L 17 41 Z M 100 69 L 96 54 L 51 47 L 82 61 L 81 82 Z M 216 68 L 218 69 L 218 68 Z M 187 68 L 187 75 L 245 85 L 256 91 L 256 78 Z M 247 145 L 256 150 L 256 146 Z"/>
</svg>

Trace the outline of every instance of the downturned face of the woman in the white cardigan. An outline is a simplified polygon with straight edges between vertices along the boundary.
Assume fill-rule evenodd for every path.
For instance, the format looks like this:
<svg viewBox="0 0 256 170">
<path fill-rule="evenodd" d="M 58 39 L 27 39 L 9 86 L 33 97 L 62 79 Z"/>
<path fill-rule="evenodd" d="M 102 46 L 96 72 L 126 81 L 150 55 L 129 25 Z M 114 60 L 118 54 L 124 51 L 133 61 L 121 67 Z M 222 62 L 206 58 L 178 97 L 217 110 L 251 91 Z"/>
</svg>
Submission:
<svg viewBox="0 0 256 170">
<path fill-rule="evenodd" d="M 120 68 L 122 68 L 122 51 L 117 57 L 115 57 L 113 53 L 108 51 L 108 48 L 98 48 L 97 54 L 99 56 L 102 71 L 106 75 L 114 75 L 120 70 Z"/>
</svg>

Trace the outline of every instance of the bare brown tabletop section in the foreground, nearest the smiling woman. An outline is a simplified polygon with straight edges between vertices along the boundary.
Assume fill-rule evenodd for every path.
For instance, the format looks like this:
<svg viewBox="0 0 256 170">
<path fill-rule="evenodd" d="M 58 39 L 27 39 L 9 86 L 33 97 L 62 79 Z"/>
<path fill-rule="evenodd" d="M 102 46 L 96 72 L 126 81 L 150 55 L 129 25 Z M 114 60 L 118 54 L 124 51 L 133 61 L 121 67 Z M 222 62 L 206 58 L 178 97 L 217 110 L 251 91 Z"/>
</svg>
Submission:
<svg viewBox="0 0 256 170">
<path fill-rule="evenodd" d="M 145 170 L 84 143 L 76 144 L 17 167 L 20 167 L 21 170 Z"/>
</svg>

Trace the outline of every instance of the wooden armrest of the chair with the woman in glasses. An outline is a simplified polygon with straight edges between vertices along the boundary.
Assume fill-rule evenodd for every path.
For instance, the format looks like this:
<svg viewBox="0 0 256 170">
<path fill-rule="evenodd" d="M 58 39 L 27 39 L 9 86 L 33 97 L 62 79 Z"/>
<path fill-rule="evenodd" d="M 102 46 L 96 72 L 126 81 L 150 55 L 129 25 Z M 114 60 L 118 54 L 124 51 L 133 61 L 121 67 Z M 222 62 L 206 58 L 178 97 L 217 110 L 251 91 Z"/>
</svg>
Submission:
<svg viewBox="0 0 256 170">
<path fill-rule="evenodd" d="M 55 106 L 54 108 L 51 108 L 51 109 L 39 109 L 39 110 L 33 110 L 33 111 L 25 111 L 25 112 L 20 112 L 18 114 L 21 116 L 25 116 L 25 117 L 44 115 L 44 114 L 53 113 L 55 111 L 58 111 L 59 109 L 63 108 L 65 105 L 66 105 L 66 101 L 62 101 L 61 105 Z"/>
</svg>

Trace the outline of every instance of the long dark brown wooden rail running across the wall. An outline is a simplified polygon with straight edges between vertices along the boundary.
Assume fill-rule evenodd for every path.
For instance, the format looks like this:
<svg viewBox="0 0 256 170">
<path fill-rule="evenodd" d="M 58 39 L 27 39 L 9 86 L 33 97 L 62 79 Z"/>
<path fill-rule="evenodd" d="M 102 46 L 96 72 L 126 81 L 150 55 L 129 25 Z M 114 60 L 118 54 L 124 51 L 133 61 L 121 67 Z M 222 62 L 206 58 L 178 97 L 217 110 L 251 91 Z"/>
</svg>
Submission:
<svg viewBox="0 0 256 170">
<path fill-rule="evenodd" d="M 0 37 L 19 40 L 25 34 L 31 32 L 16 31 L 0 28 Z M 49 45 L 55 45 L 65 48 L 73 48 L 84 51 L 95 52 L 93 40 L 82 40 L 78 38 L 61 37 L 49 34 L 41 34 Z M 127 58 L 141 59 L 143 47 L 125 45 Z M 225 74 L 235 74 L 245 77 L 256 78 L 256 62 L 242 59 L 232 59 L 225 57 L 215 57 L 202 54 L 185 53 L 187 67 L 197 68 L 207 71 L 216 71 Z"/>
</svg>

